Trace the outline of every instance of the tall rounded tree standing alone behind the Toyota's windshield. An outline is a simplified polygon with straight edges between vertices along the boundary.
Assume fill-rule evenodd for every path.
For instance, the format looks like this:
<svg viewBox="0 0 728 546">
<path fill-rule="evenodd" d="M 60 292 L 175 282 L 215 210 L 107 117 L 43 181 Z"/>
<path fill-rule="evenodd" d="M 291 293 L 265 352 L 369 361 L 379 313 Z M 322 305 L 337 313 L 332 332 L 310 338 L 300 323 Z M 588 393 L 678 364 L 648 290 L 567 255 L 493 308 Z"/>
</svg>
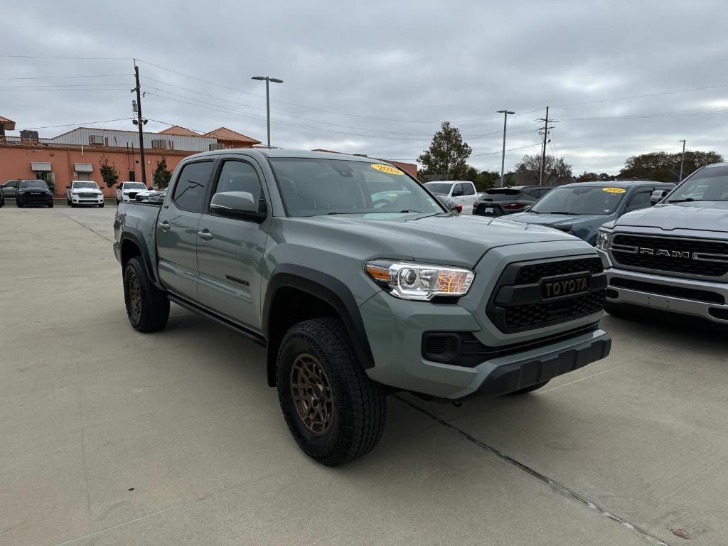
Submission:
<svg viewBox="0 0 728 546">
<path fill-rule="evenodd" d="M 468 175 L 467 158 L 472 148 L 462 140 L 457 127 L 450 122 L 443 122 L 440 130 L 435 132 L 430 149 L 425 151 L 417 161 L 422 164 L 423 175 L 443 175 L 456 180 Z"/>
</svg>

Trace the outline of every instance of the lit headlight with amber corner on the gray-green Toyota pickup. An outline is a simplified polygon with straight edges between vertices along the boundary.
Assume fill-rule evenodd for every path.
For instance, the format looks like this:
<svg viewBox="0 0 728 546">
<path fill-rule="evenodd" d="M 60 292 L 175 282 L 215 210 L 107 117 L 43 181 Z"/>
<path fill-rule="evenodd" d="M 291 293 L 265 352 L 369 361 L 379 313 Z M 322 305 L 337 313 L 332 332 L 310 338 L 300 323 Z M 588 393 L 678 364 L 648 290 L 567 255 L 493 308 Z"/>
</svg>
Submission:
<svg viewBox="0 0 728 546">
<path fill-rule="evenodd" d="M 427 301 L 435 296 L 464 296 L 475 273 L 462 267 L 368 261 L 364 271 L 392 296 Z"/>
</svg>

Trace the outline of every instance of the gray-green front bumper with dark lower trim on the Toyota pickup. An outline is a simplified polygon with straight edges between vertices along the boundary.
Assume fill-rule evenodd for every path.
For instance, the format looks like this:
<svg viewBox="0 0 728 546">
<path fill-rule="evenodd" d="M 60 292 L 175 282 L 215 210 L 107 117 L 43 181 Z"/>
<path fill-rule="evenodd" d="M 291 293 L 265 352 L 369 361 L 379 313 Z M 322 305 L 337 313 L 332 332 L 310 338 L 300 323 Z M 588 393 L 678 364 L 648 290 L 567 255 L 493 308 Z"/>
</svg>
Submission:
<svg viewBox="0 0 728 546">
<path fill-rule="evenodd" d="M 368 376 L 391 387 L 448 400 L 505 395 L 595 362 L 609 355 L 611 348 L 609 335 L 597 328 L 484 359 L 472 367 L 450 365 L 423 357 L 422 336 L 429 331 L 479 334 L 481 326 L 467 309 L 404 301 L 384 292 L 359 309 L 376 363 L 366 370 Z"/>
</svg>

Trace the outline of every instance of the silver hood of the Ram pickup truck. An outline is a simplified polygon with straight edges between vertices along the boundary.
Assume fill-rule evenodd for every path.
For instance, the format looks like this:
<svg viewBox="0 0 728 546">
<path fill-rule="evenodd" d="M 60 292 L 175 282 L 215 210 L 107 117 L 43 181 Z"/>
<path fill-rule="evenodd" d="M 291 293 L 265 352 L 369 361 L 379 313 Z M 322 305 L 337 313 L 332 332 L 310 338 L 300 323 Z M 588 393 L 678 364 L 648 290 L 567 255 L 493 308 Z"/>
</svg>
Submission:
<svg viewBox="0 0 728 546">
<path fill-rule="evenodd" d="M 675 205 L 654 205 L 654 207 L 622 215 L 615 223 L 615 227 L 621 226 L 652 227 L 666 232 L 673 229 L 728 232 L 728 202 L 685 202 Z"/>
</svg>

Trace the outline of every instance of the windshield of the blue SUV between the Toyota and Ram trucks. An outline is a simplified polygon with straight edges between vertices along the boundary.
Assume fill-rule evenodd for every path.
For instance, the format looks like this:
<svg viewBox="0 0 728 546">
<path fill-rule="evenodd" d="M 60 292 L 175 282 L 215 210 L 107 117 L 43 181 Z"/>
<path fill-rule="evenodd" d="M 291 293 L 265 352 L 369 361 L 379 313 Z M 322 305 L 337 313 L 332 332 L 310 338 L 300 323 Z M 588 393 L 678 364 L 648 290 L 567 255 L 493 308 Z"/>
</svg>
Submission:
<svg viewBox="0 0 728 546">
<path fill-rule="evenodd" d="M 549 191 L 531 207 L 539 214 L 612 214 L 625 198 L 624 188 L 576 186 Z"/>
</svg>

